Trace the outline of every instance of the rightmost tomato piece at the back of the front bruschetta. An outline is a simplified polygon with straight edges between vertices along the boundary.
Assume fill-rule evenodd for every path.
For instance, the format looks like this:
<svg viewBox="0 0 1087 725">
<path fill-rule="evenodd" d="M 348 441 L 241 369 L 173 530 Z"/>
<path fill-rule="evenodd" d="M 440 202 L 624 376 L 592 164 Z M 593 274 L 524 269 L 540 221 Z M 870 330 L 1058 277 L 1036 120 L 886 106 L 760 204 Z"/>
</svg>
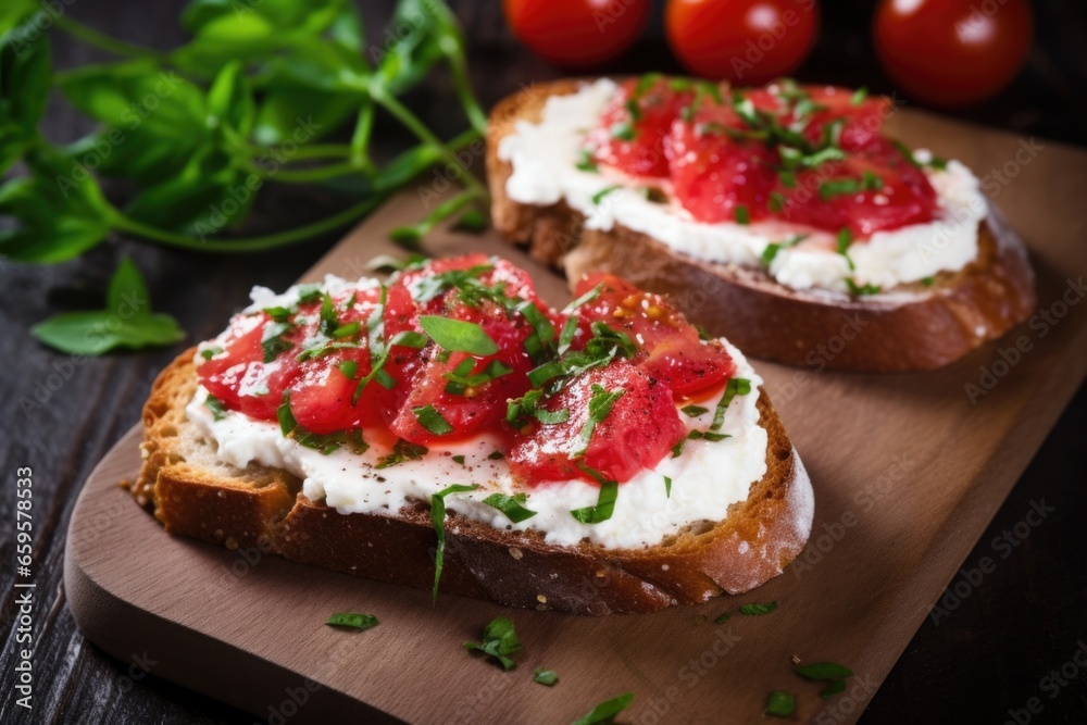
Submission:
<svg viewBox="0 0 1087 725">
<path fill-rule="evenodd" d="M 736 363 L 719 340 L 701 340 L 698 330 L 665 298 L 646 292 L 614 275 L 591 274 L 576 287 L 584 295 L 600 286 L 600 295 L 579 310 L 634 340 L 634 363 L 667 386 L 676 400 L 719 386 L 736 372 Z"/>
</svg>

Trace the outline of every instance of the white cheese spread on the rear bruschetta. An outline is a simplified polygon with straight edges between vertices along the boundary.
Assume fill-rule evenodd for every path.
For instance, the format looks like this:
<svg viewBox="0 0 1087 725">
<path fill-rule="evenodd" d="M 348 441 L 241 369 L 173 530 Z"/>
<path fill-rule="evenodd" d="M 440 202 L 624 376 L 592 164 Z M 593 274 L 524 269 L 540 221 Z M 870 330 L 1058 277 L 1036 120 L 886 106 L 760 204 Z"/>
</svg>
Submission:
<svg viewBox="0 0 1087 725">
<path fill-rule="evenodd" d="M 811 227 L 766 221 L 739 225 L 696 222 L 677 203 L 658 203 L 634 187 L 594 197 L 625 179 L 615 174 L 577 168 L 585 133 L 596 125 L 600 110 L 617 86 L 608 78 L 584 85 L 577 92 L 547 100 L 539 123 L 518 121 L 514 133 L 499 143 L 498 155 L 513 173 L 505 190 L 513 201 L 549 205 L 565 201 L 586 217 L 589 229 L 609 230 L 615 224 L 646 234 L 672 249 L 698 259 L 763 268 L 766 246 L 797 234 L 810 235 L 801 243 L 782 249 L 767 273 L 779 284 L 798 290 L 847 293 L 847 277 L 858 285 L 889 290 L 939 272 L 957 272 L 977 257 L 977 227 L 986 215 L 986 201 L 977 177 L 958 161 L 945 171 L 927 168 L 937 193 L 938 218 L 879 232 L 854 241 L 849 262 L 837 252 L 836 235 Z M 932 158 L 914 152 L 920 161 Z"/>
</svg>

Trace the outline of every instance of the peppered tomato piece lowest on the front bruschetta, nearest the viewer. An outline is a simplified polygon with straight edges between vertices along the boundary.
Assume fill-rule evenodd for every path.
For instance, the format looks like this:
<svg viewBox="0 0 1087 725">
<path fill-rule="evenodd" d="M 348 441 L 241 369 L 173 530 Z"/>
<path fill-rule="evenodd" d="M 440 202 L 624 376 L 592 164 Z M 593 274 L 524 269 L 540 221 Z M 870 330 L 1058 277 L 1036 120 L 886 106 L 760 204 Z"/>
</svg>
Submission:
<svg viewBox="0 0 1087 725">
<path fill-rule="evenodd" d="M 623 395 L 595 424 L 586 447 L 583 430 L 589 420 L 589 401 L 599 390 L 622 390 Z M 507 454 L 514 475 L 529 485 L 571 478 L 595 482 L 578 464 L 623 483 L 655 466 L 687 435 L 667 387 L 625 362 L 575 378 L 548 399 L 545 408 L 566 410 L 569 417 L 555 425 L 534 423 L 534 432 L 518 437 Z"/>
</svg>

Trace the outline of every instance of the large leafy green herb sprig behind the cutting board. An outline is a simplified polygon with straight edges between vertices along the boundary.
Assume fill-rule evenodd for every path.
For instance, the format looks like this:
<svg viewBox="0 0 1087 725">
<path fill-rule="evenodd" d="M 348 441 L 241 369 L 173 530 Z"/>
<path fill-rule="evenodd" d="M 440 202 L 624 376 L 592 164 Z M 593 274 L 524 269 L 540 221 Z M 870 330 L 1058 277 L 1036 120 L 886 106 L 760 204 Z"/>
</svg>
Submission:
<svg viewBox="0 0 1087 725">
<path fill-rule="evenodd" d="M 473 96 L 464 38 L 440 0 L 400 0 L 384 45 L 365 47 L 350 0 L 230 4 L 192 0 L 180 16 L 189 34 L 167 51 L 121 41 L 68 14 L 64 33 L 117 60 L 53 72 L 40 3 L 10 0 L 0 11 L 0 173 L 22 159 L 26 173 L 0 186 L 0 257 L 59 262 L 111 232 L 204 252 L 257 251 L 343 227 L 428 167 L 458 168 L 461 192 L 421 223 L 485 207 L 479 179 L 457 159 L 476 142 L 486 116 Z M 439 65 L 448 66 L 470 129 L 441 140 L 401 100 Z M 57 89 L 97 124 L 67 147 L 38 130 Z M 385 116 L 417 141 L 385 165 L 371 158 L 372 130 Z M 348 142 L 329 142 L 336 132 Z M 133 183 L 121 208 L 98 179 Z M 357 199 L 325 218 L 242 238 L 264 185 L 322 184 Z"/>
</svg>

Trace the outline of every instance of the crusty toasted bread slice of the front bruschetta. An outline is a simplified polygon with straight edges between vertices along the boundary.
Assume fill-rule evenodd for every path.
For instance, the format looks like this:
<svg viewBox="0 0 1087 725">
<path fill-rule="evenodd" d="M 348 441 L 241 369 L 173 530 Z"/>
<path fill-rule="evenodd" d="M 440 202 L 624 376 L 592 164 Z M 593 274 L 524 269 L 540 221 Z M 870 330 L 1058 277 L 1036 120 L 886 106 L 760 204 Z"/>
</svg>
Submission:
<svg viewBox="0 0 1087 725">
<path fill-rule="evenodd" d="M 182 353 L 151 389 L 143 408 L 143 465 L 132 486 L 167 532 L 430 588 L 437 536 L 426 502 L 390 515 L 340 514 L 308 499 L 286 471 L 221 462 L 214 443 L 186 417 L 198 386 L 193 353 Z M 803 548 L 814 505 L 808 475 L 765 392 L 758 407 L 769 434 L 766 474 L 724 521 L 691 525 L 653 547 L 607 549 L 554 546 L 538 532 L 493 528 L 450 513 L 440 590 L 600 615 L 704 602 L 776 576 Z"/>
</svg>

